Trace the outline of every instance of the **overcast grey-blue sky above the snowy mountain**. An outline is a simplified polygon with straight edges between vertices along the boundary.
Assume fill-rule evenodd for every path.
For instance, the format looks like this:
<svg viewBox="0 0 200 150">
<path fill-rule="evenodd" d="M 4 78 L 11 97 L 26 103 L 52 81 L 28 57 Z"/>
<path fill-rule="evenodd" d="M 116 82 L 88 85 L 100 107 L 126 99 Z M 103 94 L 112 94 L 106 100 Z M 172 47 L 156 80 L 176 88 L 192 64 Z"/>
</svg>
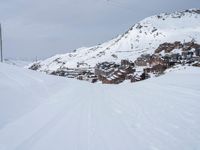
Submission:
<svg viewBox="0 0 200 150">
<path fill-rule="evenodd" d="M 150 15 L 199 7 L 199 0 L 0 0 L 4 56 L 47 58 L 110 40 Z"/>
</svg>

